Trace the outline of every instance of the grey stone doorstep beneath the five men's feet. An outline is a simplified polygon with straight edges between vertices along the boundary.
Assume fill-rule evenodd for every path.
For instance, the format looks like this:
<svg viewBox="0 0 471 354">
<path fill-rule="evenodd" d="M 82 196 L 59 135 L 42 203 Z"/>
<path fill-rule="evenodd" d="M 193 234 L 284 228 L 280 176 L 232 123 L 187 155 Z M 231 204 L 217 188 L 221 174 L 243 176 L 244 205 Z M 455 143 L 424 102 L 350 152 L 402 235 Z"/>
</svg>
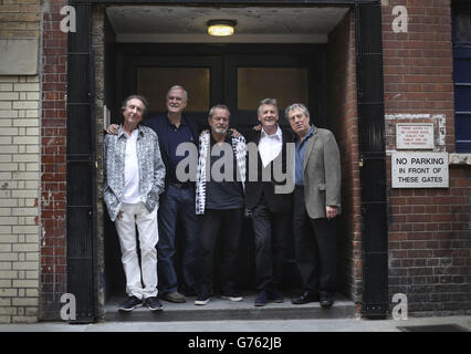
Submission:
<svg viewBox="0 0 471 354">
<path fill-rule="evenodd" d="M 254 306 L 257 294 L 245 294 L 243 301 L 212 296 L 207 305 L 195 305 L 196 298 L 187 298 L 186 303 L 170 303 L 161 300 L 163 311 L 151 312 L 147 308 L 137 308 L 132 312 L 117 310 L 121 299 L 112 299 L 105 306 L 107 322 L 151 322 L 151 321 L 227 321 L 227 320 L 305 320 L 305 319 L 352 319 L 355 317 L 355 304 L 343 295 L 336 295 L 331 309 L 322 309 L 318 302 L 293 305 L 290 298 L 283 303 L 268 303 Z"/>
</svg>

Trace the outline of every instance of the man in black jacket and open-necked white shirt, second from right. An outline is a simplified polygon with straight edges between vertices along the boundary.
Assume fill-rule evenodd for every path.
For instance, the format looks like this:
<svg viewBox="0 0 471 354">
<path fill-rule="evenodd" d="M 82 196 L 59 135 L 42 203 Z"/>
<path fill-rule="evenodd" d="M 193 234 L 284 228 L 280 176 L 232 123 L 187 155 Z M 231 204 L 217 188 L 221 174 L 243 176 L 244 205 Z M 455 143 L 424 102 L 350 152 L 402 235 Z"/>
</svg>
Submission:
<svg viewBox="0 0 471 354">
<path fill-rule="evenodd" d="M 245 183 L 245 207 L 251 211 L 255 236 L 257 290 L 255 306 L 268 302 L 283 302 L 280 285 L 284 272 L 286 235 L 290 228 L 292 194 L 276 192 L 275 186 L 284 181 L 275 177 L 281 170 L 286 173 L 286 143 L 293 135 L 280 128 L 276 100 L 260 102 L 258 118 L 260 132 L 252 132 L 248 143 L 258 145 L 257 174 L 248 170 Z M 250 166 L 249 169 L 253 168 Z M 257 175 L 252 180 L 251 176 Z M 263 176 L 270 176 L 265 180 Z"/>
</svg>

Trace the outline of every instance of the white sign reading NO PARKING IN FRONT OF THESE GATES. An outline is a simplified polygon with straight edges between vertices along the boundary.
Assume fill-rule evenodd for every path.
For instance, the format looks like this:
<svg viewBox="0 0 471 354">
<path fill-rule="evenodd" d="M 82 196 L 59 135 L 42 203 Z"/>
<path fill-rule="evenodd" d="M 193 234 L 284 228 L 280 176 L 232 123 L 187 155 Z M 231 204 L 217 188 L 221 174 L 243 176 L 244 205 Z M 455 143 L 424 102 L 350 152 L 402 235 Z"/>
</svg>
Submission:
<svg viewBox="0 0 471 354">
<path fill-rule="evenodd" d="M 393 188 L 448 188 L 448 153 L 393 153 Z"/>
</svg>

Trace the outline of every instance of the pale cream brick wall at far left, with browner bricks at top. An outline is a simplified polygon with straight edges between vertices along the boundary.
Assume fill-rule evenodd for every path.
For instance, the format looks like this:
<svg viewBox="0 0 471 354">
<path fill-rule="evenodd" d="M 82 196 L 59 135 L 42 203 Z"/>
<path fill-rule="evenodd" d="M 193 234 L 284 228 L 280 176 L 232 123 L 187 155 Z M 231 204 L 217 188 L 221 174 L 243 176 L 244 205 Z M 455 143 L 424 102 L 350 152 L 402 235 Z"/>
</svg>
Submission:
<svg viewBox="0 0 471 354">
<path fill-rule="evenodd" d="M 0 40 L 38 38 L 40 0 L 0 2 Z M 0 323 L 39 309 L 40 76 L 0 75 Z"/>
</svg>

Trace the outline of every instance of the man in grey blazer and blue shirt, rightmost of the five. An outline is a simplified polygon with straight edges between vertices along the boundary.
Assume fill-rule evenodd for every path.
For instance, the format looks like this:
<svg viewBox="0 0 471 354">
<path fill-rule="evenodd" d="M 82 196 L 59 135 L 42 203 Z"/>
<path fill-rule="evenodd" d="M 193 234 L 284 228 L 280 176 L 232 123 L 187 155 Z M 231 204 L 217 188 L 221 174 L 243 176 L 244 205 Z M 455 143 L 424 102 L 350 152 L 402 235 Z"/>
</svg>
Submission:
<svg viewBox="0 0 471 354">
<path fill-rule="evenodd" d="M 304 293 L 293 304 L 321 301 L 331 308 L 336 291 L 336 227 L 341 214 L 341 154 L 332 132 L 311 125 L 307 108 L 294 103 L 285 116 L 296 134 L 293 232 Z"/>
</svg>

